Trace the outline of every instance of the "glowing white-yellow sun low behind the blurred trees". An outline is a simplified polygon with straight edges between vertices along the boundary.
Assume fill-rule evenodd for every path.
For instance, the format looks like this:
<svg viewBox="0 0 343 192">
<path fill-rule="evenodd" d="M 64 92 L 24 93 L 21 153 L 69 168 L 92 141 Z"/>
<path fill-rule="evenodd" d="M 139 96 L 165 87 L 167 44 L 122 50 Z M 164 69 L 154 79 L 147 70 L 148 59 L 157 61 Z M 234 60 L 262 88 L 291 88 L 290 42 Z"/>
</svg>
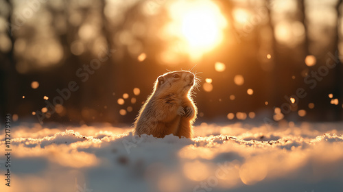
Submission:
<svg viewBox="0 0 343 192">
<path fill-rule="evenodd" d="M 201 55 L 221 43 L 226 19 L 208 0 L 176 1 L 169 6 L 167 32 L 182 40 L 191 55 Z"/>
</svg>

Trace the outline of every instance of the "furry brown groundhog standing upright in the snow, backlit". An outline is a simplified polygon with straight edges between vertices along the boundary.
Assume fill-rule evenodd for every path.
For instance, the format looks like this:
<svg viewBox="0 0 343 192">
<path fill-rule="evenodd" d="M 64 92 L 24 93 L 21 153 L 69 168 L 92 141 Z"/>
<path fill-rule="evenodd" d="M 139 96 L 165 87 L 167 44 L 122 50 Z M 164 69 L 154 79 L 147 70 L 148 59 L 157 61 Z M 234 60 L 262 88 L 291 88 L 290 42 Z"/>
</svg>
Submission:
<svg viewBox="0 0 343 192">
<path fill-rule="evenodd" d="M 152 95 L 147 98 L 134 122 L 134 134 L 168 134 L 191 138 L 198 109 L 191 99 L 198 78 L 189 71 L 173 71 L 157 78 Z"/>
</svg>

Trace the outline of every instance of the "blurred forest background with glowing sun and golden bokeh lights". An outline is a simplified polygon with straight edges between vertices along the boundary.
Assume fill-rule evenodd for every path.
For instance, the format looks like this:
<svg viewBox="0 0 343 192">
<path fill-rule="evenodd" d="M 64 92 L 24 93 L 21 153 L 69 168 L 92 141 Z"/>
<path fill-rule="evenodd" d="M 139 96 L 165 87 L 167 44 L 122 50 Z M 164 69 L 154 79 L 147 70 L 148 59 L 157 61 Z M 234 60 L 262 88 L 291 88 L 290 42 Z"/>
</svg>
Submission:
<svg viewBox="0 0 343 192">
<path fill-rule="evenodd" d="M 337 0 L 0 0 L 1 117 L 132 123 L 158 75 L 193 68 L 197 123 L 339 121 L 342 10 Z"/>
</svg>

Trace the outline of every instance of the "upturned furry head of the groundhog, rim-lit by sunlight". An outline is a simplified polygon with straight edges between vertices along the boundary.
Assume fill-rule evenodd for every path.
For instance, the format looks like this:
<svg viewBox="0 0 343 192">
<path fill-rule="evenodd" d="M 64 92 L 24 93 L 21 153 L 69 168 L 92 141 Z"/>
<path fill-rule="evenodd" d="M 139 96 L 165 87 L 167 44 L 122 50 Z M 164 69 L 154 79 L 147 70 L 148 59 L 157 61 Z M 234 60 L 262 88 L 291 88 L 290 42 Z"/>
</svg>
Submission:
<svg viewBox="0 0 343 192">
<path fill-rule="evenodd" d="M 189 71 L 173 71 L 161 75 L 156 80 L 156 91 L 167 91 L 186 95 L 195 82 L 195 76 Z"/>
</svg>

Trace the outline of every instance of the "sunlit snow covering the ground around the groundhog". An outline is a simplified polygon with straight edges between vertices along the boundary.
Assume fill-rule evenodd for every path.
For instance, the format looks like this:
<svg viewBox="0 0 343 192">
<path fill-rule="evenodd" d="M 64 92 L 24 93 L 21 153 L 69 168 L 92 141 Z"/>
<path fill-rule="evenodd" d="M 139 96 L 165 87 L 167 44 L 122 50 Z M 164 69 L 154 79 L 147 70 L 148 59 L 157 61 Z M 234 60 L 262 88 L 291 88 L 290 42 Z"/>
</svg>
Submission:
<svg viewBox="0 0 343 192">
<path fill-rule="evenodd" d="M 11 187 L 0 158 L 0 191 L 342 191 L 342 128 L 202 123 L 193 139 L 156 139 L 106 124 L 21 123 L 11 134 Z"/>
</svg>

